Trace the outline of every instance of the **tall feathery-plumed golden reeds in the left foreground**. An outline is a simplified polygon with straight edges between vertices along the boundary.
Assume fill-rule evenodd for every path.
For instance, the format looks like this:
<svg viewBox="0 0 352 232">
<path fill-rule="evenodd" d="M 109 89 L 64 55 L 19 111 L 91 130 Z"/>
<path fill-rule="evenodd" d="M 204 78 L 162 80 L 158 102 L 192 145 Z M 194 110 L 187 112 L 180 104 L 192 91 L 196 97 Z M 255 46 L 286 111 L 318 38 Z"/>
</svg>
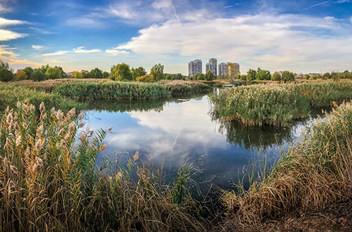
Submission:
<svg viewBox="0 0 352 232">
<path fill-rule="evenodd" d="M 108 130 L 84 129 L 75 109 L 35 111 L 0 115 L 0 231 L 204 231 L 189 194 L 198 169 L 165 184 L 139 153 L 98 168 Z"/>
</svg>

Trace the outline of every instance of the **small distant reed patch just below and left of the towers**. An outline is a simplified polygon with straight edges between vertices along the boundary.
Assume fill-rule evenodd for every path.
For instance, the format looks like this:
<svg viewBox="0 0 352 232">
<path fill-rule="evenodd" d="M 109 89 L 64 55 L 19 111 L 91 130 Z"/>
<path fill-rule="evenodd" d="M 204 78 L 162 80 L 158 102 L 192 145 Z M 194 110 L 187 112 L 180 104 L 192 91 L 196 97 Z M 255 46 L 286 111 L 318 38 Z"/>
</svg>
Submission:
<svg viewBox="0 0 352 232">
<path fill-rule="evenodd" d="M 161 84 L 168 88 L 172 96 L 191 93 L 205 93 L 210 90 L 210 86 L 202 82 L 174 80 L 172 82 L 163 81 Z"/>
</svg>

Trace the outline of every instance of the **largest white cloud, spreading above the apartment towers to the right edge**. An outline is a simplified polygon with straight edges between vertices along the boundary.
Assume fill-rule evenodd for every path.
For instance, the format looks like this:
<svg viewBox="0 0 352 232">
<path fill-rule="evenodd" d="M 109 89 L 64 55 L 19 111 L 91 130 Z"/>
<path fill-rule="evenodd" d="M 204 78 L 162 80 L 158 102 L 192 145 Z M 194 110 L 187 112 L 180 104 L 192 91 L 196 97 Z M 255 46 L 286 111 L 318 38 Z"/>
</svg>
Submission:
<svg viewBox="0 0 352 232">
<path fill-rule="evenodd" d="M 324 37 L 319 33 L 322 31 Z M 348 60 L 352 60 L 352 54 L 348 53 L 352 51 L 352 33 L 348 25 L 332 17 L 260 14 L 194 18 L 187 22 L 168 20 L 139 33 L 138 37 L 115 49 L 145 56 L 217 57 L 239 62 L 244 69 L 263 67 L 294 71 L 298 68 L 296 71 L 300 72 L 317 71 L 322 67 L 346 68 Z"/>
</svg>

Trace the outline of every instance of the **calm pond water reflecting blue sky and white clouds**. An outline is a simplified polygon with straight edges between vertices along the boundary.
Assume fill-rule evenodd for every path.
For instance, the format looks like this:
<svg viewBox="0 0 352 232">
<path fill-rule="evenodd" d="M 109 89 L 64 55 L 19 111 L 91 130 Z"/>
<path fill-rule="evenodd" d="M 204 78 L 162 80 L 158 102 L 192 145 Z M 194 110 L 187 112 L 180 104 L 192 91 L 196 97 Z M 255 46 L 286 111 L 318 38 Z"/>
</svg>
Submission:
<svg viewBox="0 0 352 232">
<path fill-rule="evenodd" d="M 208 96 L 184 102 L 95 101 L 89 108 L 85 117 L 90 129 L 113 127 L 113 133 L 105 139 L 108 147 L 99 155 L 97 165 L 103 164 L 103 156 L 114 161 L 139 151 L 158 167 L 163 165 L 165 178 L 171 180 L 184 163 L 198 160 L 195 165 L 202 172 L 194 179 L 203 193 L 212 184 L 233 188 L 251 159 L 260 160 L 264 154 L 277 157 L 278 146 L 299 138 L 303 127 L 311 122 L 303 120 L 283 128 L 222 123 L 212 118 Z"/>
</svg>

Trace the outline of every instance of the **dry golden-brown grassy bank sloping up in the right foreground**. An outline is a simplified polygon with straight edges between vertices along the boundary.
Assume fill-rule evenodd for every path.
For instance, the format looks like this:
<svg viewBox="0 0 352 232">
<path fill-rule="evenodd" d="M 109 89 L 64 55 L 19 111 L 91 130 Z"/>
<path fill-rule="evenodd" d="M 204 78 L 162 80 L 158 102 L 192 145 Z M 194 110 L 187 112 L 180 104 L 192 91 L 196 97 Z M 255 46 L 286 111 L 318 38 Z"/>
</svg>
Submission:
<svg viewBox="0 0 352 232">
<path fill-rule="evenodd" d="M 342 104 L 306 129 L 270 175 L 248 191 L 227 193 L 227 226 L 258 224 L 287 214 L 321 212 L 352 197 L 352 105 Z"/>
</svg>

